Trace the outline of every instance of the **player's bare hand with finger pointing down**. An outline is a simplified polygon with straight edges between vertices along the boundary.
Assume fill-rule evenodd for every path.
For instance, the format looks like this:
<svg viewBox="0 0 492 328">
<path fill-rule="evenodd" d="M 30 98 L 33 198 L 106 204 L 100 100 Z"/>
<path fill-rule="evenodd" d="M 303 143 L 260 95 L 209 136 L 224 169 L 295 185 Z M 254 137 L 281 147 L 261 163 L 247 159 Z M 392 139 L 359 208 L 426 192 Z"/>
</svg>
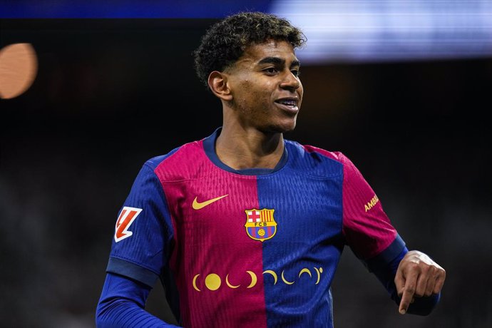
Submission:
<svg viewBox="0 0 492 328">
<path fill-rule="evenodd" d="M 446 271 L 429 256 L 418 250 L 407 252 L 394 277 L 396 292 L 401 297 L 399 312 L 405 314 L 414 297 L 441 292 L 445 279 Z"/>
</svg>

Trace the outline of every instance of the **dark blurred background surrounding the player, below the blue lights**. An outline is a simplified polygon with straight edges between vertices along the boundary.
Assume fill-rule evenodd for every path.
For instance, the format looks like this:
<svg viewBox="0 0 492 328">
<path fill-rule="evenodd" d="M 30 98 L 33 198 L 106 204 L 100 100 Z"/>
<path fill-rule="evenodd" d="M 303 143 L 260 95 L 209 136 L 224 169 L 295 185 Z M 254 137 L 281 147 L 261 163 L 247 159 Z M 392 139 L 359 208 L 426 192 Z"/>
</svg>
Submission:
<svg viewBox="0 0 492 328">
<path fill-rule="evenodd" d="M 191 52 L 212 19 L 0 19 L 33 86 L 0 100 L 1 327 L 93 327 L 116 215 L 140 166 L 221 124 Z M 309 41 L 308 41 L 309 42 Z M 407 245 L 447 272 L 402 317 L 346 248 L 335 327 L 492 327 L 492 56 L 303 66 L 300 143 L 342 150 Z M 173 320 L 163 289 L 148 309 Z"/>
</svg>

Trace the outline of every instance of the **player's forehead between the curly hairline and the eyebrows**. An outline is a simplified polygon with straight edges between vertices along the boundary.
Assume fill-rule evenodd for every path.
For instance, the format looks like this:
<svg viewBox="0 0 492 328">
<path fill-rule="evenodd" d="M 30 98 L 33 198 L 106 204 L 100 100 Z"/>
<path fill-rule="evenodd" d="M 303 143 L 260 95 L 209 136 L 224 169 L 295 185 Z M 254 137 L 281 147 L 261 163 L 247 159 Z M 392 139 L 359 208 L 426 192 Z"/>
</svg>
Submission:
<svg viewBox="0 0 492 328">
<path fill-rule="evenodd" d="M 270 40 L 265 43 L 254 43 L 248 46 L 242 56 L 237 60 L 237 63 L 254 64 L 267 57 L 282 58 L 287 64 L 297 61 L 294 47 L 289 42 Z"/>
</svg>

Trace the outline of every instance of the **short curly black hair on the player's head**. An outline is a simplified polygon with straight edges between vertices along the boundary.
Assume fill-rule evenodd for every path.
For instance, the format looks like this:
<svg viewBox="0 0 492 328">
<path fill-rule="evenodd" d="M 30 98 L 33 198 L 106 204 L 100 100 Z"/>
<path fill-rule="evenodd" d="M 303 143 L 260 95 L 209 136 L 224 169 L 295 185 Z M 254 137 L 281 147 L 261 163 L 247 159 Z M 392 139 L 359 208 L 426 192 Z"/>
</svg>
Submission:
<svg viewBox="0 0 492 328">
<path fill-rule="evenodd" d="M 240 12 L 213 24 L 193 52 L 195 71 L 208 87 L 212 71 L 224 71 L 242 56 L 247 46 L 268 40 L 287 41 L 294 48 L 306 42 L 306 37 L 287 19 L 262 12 Z"/>
</svg>

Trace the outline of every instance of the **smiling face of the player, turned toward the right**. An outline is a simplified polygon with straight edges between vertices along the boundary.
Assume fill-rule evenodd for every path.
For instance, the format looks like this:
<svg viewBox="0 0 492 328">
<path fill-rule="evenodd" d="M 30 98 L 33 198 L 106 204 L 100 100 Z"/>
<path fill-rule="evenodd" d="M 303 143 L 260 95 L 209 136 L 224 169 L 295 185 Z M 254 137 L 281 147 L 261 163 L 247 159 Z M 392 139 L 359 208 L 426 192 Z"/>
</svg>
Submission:
<svg viewBox="0 0 492 328">
<path fill-rule="evenodd" d="M 299 61 L 286 41 L 267 41 L 246 49 L 227 68 L 231 106 L 245 128 L 264 133 L 293 130 L 302 102 Z"/>
</svg>

